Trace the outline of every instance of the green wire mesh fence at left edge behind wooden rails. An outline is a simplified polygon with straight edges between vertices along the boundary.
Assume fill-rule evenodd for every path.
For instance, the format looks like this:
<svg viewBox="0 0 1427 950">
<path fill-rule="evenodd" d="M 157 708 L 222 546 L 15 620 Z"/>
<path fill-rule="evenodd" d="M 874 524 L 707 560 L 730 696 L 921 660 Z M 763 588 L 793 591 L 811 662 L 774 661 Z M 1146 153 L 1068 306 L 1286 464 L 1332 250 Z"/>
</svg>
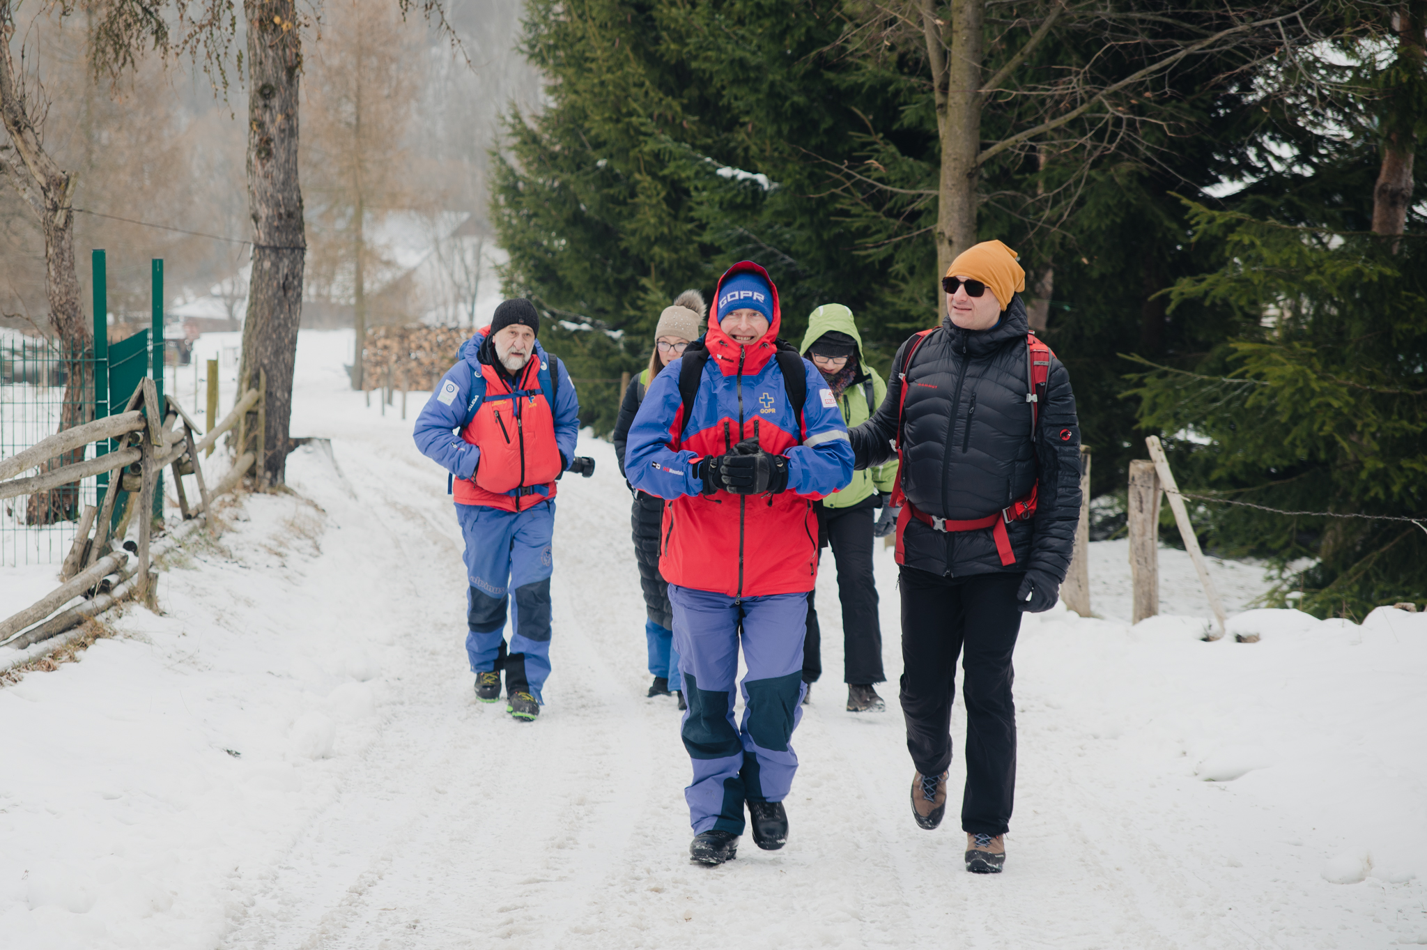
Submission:
<svg viewBox="0 0 1427 950">
<path fill-rule="evenodd" d="M 0 458 L 17 455 L 60 429 L 87 422 L 93 404 L 94 354 L 61 348 L 46 337 L 0 330 Z M 43 475 L 93 456 L 93 445 L 16 472 Z M 0 566 L 60 563 L 74 542 L 76 521 L 96 499 L 96 478 L 0 501 Z"/>
</svg>

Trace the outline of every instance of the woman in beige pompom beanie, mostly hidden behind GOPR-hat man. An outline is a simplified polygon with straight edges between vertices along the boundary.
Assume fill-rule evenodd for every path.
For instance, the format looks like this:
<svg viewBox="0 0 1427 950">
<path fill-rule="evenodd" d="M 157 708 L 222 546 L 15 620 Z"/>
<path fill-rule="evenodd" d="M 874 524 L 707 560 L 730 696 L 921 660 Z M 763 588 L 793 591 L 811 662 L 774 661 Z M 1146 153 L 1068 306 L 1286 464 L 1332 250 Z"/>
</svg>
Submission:
<svg viewBox="0 0 1427 950">
<path fill-rule="evenodd" d="M 654 352 L 649 354 L 649 368 L 629 382 L 619 404 L 614 444 L 621 475 L 624 475 L 625 441 L 629 436 L 629 427 L 634 424 L 635 414 L 639 412 L 639 404 L 644 401 L 649 382 L 669 362 L 682 357 L 685 347 L 702 335 L 699 325 L 704 322 L 704 297 L 692 290 L 679 294 L 674 304 L 665 307 L 664 312 L 659 314 L 659 324 L 654 330 L 655 345 Z M 674 608 L 669 605 L 669 585 L 659 575 L 662 521 L 664 499 L 646 492 L 634 492 L 634 511 L 629 522 L 634 528 L 634 553 L 639 563 L 639 585 L 644 588 L 644 603 L 648 612 L 644 635 L 649 646 L 649 672 L 654 675 L 649 696 L 674 693 L 679 699 L 679 709 L 684 709 L 686 703 L 684 702 L 684 682 L 679 676 L 679 655 L 674 649 Z"/>
</svg>

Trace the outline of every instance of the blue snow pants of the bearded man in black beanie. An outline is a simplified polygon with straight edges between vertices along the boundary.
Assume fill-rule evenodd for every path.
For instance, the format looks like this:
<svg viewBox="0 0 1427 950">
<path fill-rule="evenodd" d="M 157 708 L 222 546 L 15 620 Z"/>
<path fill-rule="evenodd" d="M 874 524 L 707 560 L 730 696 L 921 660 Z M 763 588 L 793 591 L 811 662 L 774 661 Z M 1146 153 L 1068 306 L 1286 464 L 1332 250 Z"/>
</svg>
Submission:
<svg viewBox="0 0 1427 950">
<path fill-rule="evenodd" d="M 485 505 L 457 505 L 465 538 L 465 652 L 471 672 L 505 670 L 505 683 L 524 680 L 535 700 L 549 676 L 549 575 L 555 502 L 522 512 Z M 511 605 L 511 642 L 505 645 L 505 608 Z"/>
</svg>

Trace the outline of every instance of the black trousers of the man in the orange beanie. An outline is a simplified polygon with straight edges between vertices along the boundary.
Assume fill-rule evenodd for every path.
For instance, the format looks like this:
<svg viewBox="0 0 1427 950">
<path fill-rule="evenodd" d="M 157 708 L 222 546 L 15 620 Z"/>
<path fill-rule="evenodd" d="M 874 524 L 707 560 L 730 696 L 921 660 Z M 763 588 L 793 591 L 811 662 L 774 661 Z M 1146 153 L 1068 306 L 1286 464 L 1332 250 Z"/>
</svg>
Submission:
<svg viewBox="0 0 1427 950">
<path fill-rule="evenodd" d="M 966 789 L 962 830 L 1005 834 L 1016 797 L 1016 678 L 1023 573 L 942 578 L 902 568 L 902 715 L 906 747 L 922 775 L 952 762 L 952 698 L 962 655 L 966 700 Z"/>
</svg>

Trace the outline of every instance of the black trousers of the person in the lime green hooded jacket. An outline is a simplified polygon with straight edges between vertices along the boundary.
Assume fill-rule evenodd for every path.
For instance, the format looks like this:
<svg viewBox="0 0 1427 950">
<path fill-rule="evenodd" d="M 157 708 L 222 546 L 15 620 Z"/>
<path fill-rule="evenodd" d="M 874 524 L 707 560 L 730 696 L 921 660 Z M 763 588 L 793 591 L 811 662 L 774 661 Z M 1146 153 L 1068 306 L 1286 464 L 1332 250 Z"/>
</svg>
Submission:
<svg viewBox="0 0 1427 950">
<path fill-rule="evenodd" d="M 886 680 L 882 672 L 882 623 L 878 620 L 878 586 L 872 579 L 872 525 L 876 508 L 823 508 L 822 536 L 838 565 L 838 601 L 842 602 L 842 682 L 870 686 Z M 816 592 L 808 592 L 808 632 L 803 638 L 803 682 L 822 676 L 822 630 L 818 626 Z"/>
</svg>

